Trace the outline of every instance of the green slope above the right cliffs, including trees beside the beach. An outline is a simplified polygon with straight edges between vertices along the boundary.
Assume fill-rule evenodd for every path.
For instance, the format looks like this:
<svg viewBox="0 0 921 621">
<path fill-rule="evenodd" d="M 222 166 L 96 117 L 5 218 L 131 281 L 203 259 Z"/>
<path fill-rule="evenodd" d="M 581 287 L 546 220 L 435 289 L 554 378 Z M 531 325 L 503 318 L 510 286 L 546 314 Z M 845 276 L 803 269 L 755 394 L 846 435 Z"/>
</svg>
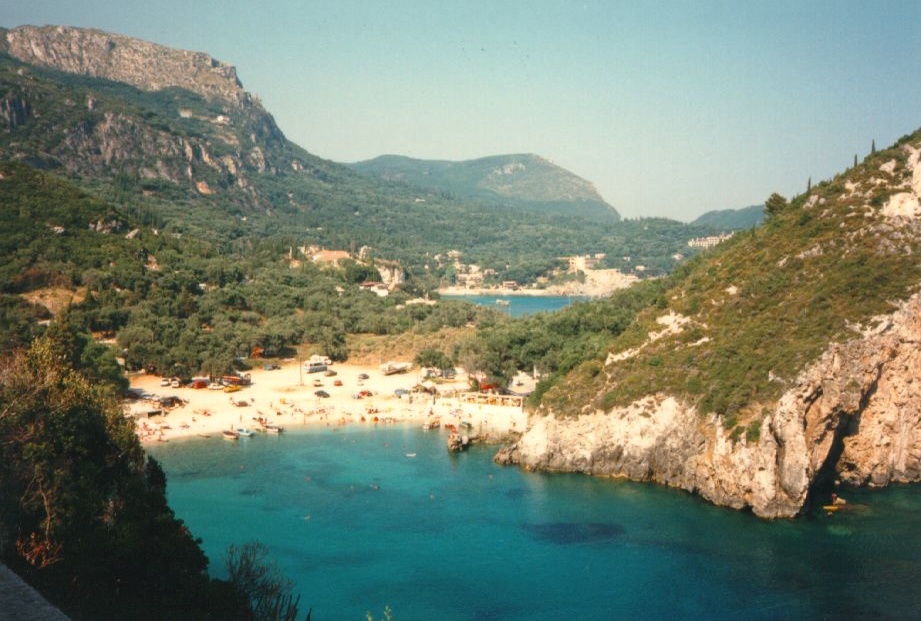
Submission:
<svg viewBox="0 0 921 621">
<path fill-rule="evenodd" d="M 549 323 L 486 329 L 479 364 L 496 377 L 542 371 L 535 399 L 558 415 L 664 393 L 755 433 L 761 408 L 830 342 L 853 338 L 855 326 L 872 325 L 918 291 L 919 223 L 882 208 L 911 187 L 906 163 L 919 148 L 921 132 L 808 194 L 772 196 L 764 225 L 666 279 L 577 305 Z M 670 333 L 663 317 L 680 329 Z M 614 360 L 605 364 L 609 353 Z"/>
</svg>

